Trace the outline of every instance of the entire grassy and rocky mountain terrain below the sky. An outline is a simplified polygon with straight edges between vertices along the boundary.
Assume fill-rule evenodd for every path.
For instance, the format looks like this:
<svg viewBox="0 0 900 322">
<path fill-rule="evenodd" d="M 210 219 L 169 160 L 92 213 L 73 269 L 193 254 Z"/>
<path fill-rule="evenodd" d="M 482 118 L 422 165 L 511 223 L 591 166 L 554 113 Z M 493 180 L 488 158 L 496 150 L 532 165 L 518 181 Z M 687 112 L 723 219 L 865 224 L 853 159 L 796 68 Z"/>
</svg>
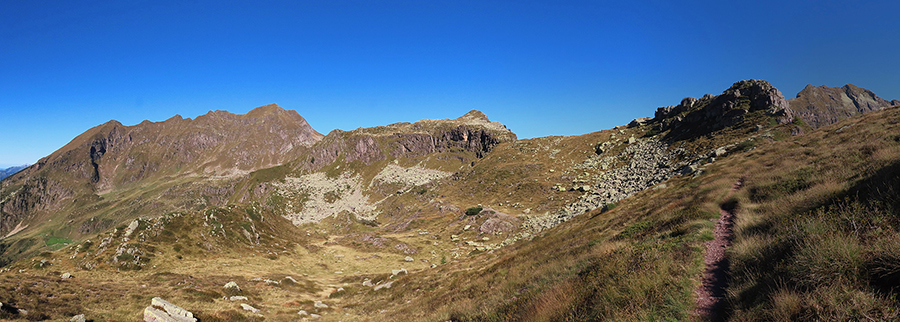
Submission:
<svg viewBox="0 0 900 322">
<path fill-rule="evenodd" d="M 0 318 L 890 320 L 898 105 L 746 80 L 570 137 L 110 121 L 0 181 Z"/>
</svg>

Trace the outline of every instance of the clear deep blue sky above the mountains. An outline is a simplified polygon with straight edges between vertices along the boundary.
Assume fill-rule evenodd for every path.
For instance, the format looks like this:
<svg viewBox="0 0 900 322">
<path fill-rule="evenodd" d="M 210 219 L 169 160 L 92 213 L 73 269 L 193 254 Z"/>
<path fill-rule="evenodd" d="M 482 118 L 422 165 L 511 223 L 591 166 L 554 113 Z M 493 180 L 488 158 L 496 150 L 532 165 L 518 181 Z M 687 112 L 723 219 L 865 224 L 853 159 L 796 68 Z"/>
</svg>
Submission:
<svg viewBox="0 0 900 322">
<path fill-rule="evenodd" d="M 900 1 L 0 1 L 0 165 L 111 119 L 277 103 L 319 132 L 456 118 L 520 138 L 765 79 L 900 99 Z"/>
</svg>

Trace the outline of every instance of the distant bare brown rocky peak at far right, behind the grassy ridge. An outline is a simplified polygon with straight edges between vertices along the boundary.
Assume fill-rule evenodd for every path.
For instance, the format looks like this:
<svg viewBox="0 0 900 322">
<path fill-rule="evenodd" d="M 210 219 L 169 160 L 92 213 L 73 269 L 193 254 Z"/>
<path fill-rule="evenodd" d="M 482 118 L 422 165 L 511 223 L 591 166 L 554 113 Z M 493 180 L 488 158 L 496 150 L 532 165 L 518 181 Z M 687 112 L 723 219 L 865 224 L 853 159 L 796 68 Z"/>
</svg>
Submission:
<svg viewBox="0 0 900 322">
<path fill-rule="evenodd" d="M 853 84 L 843 87 L 807 85 L 788 103 L 793 114 L 814 129 L 854 115 L 900 105 L 900 101 L 888 102 L 872 91 Z"/>
</svg>

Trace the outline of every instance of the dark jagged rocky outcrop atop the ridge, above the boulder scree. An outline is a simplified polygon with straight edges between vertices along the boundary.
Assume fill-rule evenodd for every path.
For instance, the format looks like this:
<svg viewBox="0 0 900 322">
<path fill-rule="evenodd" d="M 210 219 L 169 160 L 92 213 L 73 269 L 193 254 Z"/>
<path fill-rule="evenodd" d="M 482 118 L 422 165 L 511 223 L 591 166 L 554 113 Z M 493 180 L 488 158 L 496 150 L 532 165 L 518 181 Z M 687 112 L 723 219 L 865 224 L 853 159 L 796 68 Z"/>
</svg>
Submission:
<svg viewBox="0 0 900 322">
<path fill-rule="evenodd" d="M 717 96 L 688 97 L 676 106 L 660 107 L 653 121 L 657 131 L 671 130 L 670 138 L 682 139 L 734 126 L 756 111 L 776 117 L 781 124 L 793 121 L 784 95 L 769 82 L 754 79 L 734 83 Z"/>
</svg>

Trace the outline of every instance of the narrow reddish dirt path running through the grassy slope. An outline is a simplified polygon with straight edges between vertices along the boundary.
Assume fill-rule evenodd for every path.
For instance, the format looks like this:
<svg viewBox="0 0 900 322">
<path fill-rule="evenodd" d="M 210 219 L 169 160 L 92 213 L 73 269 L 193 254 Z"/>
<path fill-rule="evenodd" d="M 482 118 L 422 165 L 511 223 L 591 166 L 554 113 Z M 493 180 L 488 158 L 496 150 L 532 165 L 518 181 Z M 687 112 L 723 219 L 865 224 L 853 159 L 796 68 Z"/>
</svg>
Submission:
<svg viewBox="0 0 900 322">
<path fill-rule="evenodd" d="M 741 189 L 744 185 L 744 178 L 738 179 L 731 187 L 731 195 Z M 703 272 L 703 279 L 700 287 L 697 288 L 697 310 L 694 312 L 701 320 L 719 321 L 721 320 L 721 308 L 725 303 L 725 290 L 728 287 L 728 269 L 730 263 L 728 257 L 725 256 L 725 250 L 731 246 L 734 239 L 734 215 L 737 209 L 736 202 L 726 202 L 719 209 L 721 216 L 716 222 L 715 239 L 706 242 L 706 254 L 703 261 L 706 264 L 706 270 Z"/>
</svg>

